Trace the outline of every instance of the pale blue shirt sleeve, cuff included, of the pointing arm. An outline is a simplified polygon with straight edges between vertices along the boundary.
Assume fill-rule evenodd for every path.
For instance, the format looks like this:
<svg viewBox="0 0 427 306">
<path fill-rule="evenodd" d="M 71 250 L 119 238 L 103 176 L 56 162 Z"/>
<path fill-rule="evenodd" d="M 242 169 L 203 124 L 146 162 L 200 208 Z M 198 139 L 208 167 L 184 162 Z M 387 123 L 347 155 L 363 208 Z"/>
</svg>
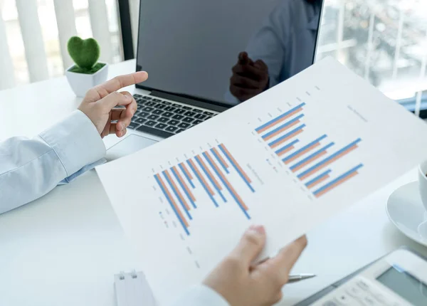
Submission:
<svg viewBox="0 0 427 306">
<path fill-rule="evenodd" d="M 100 134 L 80 110 L 38 137 L 13 137 L 0 142 L 0 213 L 73 180 L 99 164 L 104 156 Z"/>
</svg>

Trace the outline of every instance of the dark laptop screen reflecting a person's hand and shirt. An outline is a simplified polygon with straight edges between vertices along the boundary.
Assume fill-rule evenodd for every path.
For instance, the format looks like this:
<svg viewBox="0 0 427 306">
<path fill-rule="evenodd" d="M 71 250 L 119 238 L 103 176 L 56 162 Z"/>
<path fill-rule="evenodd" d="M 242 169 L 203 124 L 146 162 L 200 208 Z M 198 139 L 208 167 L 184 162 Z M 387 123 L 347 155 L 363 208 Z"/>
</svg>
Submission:
<svg viewBox="0 0 427 306">
<path fill-rule="evenodd" d="M 322 0 L 141 0 L 149 90 L 236 105 L 314 61 Z"/>
</svg>

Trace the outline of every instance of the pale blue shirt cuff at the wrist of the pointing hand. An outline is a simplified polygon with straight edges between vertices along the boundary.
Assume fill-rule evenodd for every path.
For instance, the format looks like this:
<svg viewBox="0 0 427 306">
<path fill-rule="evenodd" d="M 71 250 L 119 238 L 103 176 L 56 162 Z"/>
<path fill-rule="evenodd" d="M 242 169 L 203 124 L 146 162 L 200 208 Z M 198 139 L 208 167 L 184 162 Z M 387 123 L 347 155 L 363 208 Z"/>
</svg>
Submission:
<svg viewBox="0 0 427 306">
<path fill-rule="evenodd" d="M 75 110 L 39 136 L 56 152 L 67 176 L 105 156 L 105 144 L 100 134 L 80 110 Z"/>
</svg>

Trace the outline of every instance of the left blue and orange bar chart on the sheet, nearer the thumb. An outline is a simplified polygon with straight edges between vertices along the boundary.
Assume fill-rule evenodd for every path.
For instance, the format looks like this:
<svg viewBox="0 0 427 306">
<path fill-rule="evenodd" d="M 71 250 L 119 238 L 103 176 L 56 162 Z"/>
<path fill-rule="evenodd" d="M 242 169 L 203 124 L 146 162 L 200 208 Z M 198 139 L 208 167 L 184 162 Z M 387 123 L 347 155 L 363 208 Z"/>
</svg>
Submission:
<svg viewBox="0 0 427 306">
<path fill-rule="evenodd" d="M 236 183 L 230 179 L 232 174 L 237 174 L 234 177 L 242 182 L 239 188 L 245 186 L 246 191 L 238 190 Z M 251 219 L 248 205 L 241 194 L 255 192 L 253 181 L 224 144 L 164 169 L 154 174 L 154 179 L 188 236 L 193 220 L 192 211 L 203 209 L 209 203 L 221 209 L 221 205 L 233 202 L 245 218 Z M 199 189 L 204 192 L 201 194 Z M 196 193 L 199 197 L 196 197 Z"/>
</svg>

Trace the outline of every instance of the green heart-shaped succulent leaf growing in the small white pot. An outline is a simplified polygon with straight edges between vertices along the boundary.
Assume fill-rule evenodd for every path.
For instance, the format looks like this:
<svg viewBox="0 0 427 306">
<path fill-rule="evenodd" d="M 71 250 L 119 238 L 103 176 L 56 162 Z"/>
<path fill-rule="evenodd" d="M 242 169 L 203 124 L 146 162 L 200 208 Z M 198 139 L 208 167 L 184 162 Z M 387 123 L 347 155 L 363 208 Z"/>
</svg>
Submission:
<svg viewBox="0 0 427 306">
<path fill-rule="evenodd" d="M 100 58 L 100 45 L 94 38 L 83 40 L 78 36 L 73 36 L 68 41 L 68 53 L 78 67 L 84 70 L 91 70 Z"/>
</svg>

